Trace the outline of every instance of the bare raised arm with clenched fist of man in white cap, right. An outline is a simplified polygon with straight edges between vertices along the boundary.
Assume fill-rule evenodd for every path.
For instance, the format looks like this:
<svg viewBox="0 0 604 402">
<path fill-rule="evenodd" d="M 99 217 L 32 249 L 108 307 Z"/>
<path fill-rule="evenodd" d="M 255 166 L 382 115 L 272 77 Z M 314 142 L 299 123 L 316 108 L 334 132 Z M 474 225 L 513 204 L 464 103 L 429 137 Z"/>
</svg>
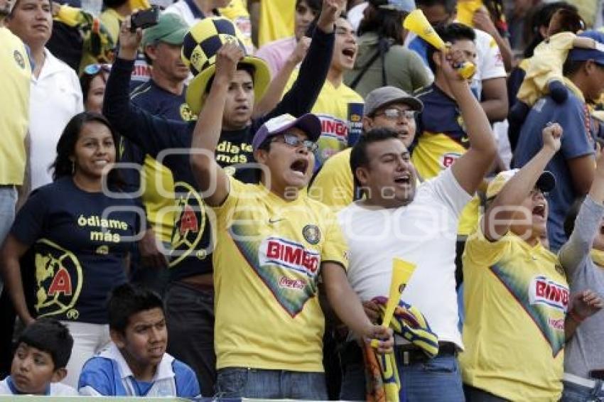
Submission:
<svg viewBox="0 0 604 402">
<path fill-rule="evenodd" d="M 543 148 L 502 188 L 482 218 L 482 233 L 497 241 L 509 230 L 519 205 L 534 188 L 545 166 L 560 149 L 562 127 L 551 124 L 543 130 Z"/>
</svg>

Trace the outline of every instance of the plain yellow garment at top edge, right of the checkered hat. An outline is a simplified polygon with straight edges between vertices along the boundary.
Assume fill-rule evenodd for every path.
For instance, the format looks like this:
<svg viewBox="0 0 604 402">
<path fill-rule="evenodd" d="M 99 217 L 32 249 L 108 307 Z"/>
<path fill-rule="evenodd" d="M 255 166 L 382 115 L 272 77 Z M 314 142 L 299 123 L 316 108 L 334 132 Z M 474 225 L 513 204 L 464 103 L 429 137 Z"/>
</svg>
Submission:
<svg viewBox="0 0 604 402">
<path fill-rule="evenodd" d="M 293 36 L 296 0 L 260 1 L 258 48 L 273 40 Z"/>
</svg>

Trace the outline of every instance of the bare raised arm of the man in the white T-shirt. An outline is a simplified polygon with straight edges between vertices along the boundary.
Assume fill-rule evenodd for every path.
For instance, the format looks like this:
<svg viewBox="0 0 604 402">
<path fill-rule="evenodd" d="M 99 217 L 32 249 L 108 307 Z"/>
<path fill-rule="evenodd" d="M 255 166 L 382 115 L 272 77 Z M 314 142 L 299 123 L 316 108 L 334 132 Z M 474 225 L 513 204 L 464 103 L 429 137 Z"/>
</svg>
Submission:
<svg viewBox="0 0 604 402">
<path fill-rule="evenodd" d="M 470 139 L 470 148 L 453 163 L 451 170 L 463 190 L 474 194 L 495 159 L 497 146 L 489 119 L 470 91 L 470 85 L 453 69 L 453 65 L 463 61 L 460 52 L 440 52 L 439 55 L 443 75 L 457 100 Z"/>
</svg>

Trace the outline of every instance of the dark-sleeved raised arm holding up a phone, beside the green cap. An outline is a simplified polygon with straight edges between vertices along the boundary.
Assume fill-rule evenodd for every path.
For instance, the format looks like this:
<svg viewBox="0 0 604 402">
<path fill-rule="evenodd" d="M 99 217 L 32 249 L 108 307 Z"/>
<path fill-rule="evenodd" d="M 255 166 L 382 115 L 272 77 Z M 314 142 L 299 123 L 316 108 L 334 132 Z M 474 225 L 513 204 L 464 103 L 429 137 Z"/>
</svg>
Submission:
<svg viewBox="0 0 604 402">
<path fill-rule="evenodd" d="M 119 32 L 119 53 L 105 88 L 103 114 L 120 135 L 156 157 L 164 149 L 188 146 L 190 140 L 187 123 L 153 116 L 130 102 L 130 76 L 141 35 L 140 29 L 130 32 L 130 18 L 126 18 Z"/>
</svg>

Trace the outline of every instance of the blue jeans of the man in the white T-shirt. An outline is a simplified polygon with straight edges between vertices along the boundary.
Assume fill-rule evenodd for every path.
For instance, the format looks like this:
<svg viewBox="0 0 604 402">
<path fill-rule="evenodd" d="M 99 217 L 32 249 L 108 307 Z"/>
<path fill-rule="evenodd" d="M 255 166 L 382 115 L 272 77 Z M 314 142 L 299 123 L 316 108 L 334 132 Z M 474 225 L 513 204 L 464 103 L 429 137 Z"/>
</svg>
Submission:
<svg viewBox="0 0 604 402">
<path fill-rule="evenodd" d="M 409 401 L 465 401 L 461 372 L 454 356 L 435 357 L 426 362 L 404 366 L 397 359 L 401 379 L 401 402 Z M 343 367 L 340 399 L 365 401 L 365 368 L 360 363 Z"/>
</svg>

